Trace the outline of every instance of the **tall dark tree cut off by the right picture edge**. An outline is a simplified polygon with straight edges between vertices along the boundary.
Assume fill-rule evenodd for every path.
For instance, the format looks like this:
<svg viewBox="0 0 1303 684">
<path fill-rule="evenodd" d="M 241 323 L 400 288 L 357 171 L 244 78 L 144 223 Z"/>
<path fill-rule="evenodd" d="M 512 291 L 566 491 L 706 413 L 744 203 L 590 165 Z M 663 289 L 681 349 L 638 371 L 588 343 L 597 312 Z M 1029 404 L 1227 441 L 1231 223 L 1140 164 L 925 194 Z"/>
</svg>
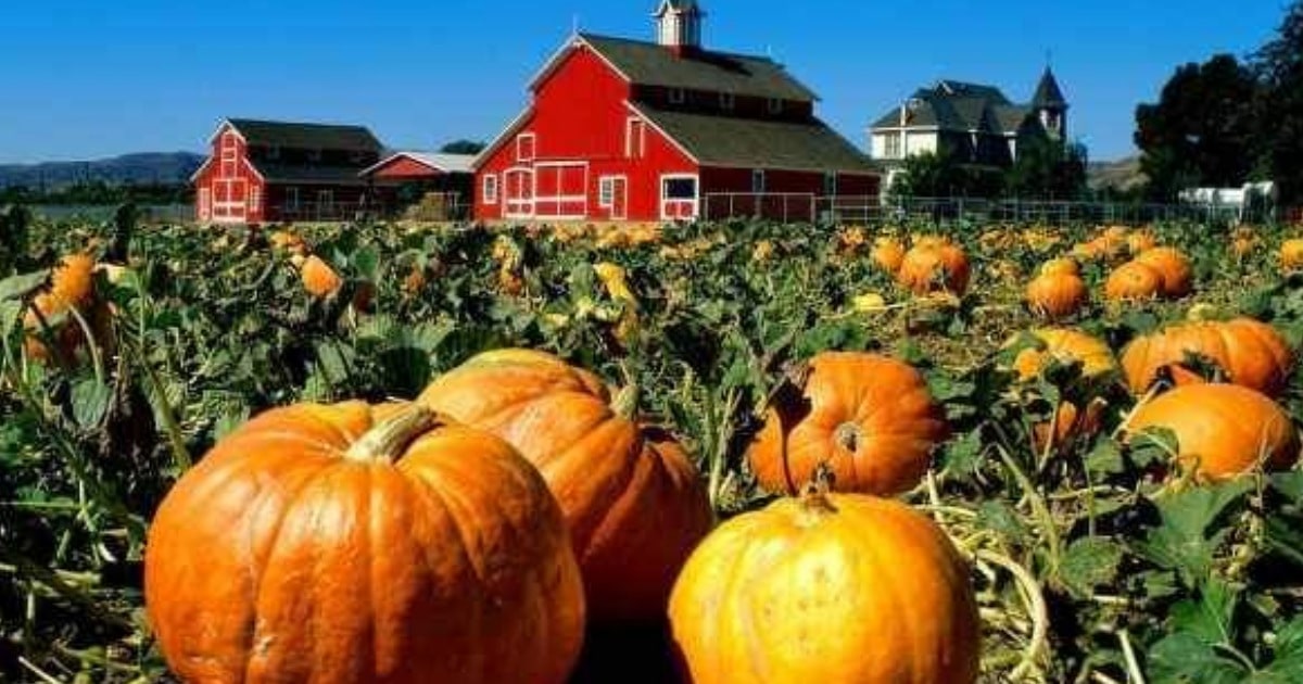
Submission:
<svg viewBox="0 0 1303 684">
<path fill-rule="evenodd" d="M 1287 202 L 1303 202 L 1303 0 L 1285 14 L 1276 39 L 1253 57 L 1261 78 L 1260 141 L 1265 175 Z"/>
</svg>

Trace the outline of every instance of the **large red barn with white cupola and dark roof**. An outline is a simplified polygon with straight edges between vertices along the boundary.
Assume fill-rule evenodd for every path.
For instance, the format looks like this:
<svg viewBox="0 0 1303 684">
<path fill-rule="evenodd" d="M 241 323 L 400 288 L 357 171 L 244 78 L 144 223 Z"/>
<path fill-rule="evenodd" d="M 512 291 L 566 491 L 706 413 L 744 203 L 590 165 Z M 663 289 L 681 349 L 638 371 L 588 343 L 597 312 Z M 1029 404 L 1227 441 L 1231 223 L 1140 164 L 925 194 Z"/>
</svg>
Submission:
<svg viewBox="0 0 1303 684">
<path fill-rule="evenodd" d="M 693 0 L 654 17 L 657 43 L 576 34 L 543 66 L 477 160 L 478 219 L 809 220 L 816 198 L 877 195 L 872 162 L 782 65 L 704 50 Z"/>
</svg>

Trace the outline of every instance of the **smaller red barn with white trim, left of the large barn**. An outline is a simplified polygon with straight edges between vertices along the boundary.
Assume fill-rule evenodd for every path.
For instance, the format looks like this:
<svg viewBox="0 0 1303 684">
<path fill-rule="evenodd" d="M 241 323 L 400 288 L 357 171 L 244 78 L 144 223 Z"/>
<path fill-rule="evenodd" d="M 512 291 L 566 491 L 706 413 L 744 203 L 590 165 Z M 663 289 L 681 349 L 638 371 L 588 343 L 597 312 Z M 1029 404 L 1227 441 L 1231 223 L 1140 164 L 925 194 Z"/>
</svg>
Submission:
<svg viewBox="0 0 1303 684">
<path fill-rule="evenodd" d="M 352 219 L 365 207 L 361 172 L 382 146 L 362 126 L 228 119 L 194 172 L 203 223 Z"/>
</svg>

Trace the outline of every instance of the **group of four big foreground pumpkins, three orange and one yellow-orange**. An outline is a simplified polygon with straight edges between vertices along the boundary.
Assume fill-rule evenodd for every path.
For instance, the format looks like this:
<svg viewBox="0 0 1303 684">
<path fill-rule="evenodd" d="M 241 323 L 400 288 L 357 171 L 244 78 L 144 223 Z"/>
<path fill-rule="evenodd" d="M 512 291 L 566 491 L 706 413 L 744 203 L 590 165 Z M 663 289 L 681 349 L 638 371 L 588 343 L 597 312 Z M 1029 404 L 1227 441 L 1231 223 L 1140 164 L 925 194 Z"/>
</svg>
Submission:
<svg viewBox="0 0 1303 684">
<path fill-rule="evenodd" d="M 560 683 L 585 628 L 667 620 L 698 684 L 975 681 L 968 567 L 886 498 L 943 410 L 874 354 L 799 382 L 748 451 L 782 498 L 718 528 L 636 390 L 541 352 L 481 354 L 409 404 L 268 410 L 155 515 L 159 646 L 192 681 Z"/>
</svg>

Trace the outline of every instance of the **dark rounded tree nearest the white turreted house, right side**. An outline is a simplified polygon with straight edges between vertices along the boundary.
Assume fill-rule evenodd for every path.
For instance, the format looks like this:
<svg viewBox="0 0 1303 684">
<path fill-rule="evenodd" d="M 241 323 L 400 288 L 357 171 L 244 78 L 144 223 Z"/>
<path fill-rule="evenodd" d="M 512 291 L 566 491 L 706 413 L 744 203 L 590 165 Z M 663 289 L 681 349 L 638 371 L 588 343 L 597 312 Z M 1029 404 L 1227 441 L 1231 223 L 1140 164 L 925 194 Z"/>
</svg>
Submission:
<svg viewBox="0 0 1303 684">
<path fill-rule="evenodd" d="M 1157 103 L 1136 108 L 1149 195 L 1170 201 L 1192 185 L 1243 185 L 1257 165 L 1260 96 L 1253 70 L 1231 55 L 1178 68 Z"/>
</svg>

